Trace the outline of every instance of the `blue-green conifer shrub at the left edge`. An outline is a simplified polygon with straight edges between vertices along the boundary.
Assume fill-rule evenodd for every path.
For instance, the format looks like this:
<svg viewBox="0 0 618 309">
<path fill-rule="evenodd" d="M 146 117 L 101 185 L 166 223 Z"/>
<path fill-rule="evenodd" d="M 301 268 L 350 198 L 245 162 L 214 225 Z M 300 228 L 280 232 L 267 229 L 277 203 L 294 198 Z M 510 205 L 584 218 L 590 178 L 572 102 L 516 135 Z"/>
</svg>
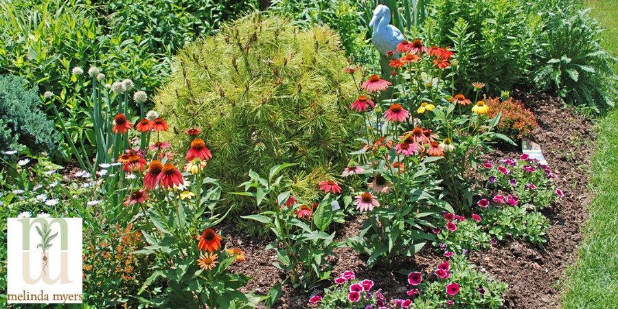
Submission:
<svg viewBox="0 0 618 309">
<path fill-rule="evenodd" d="M 41 98 L 24 78 L 0 76 L 0 149 L 25 145 L 34 151 L 55 152 L 59 135 L 41 111 Z"/>
</svg>

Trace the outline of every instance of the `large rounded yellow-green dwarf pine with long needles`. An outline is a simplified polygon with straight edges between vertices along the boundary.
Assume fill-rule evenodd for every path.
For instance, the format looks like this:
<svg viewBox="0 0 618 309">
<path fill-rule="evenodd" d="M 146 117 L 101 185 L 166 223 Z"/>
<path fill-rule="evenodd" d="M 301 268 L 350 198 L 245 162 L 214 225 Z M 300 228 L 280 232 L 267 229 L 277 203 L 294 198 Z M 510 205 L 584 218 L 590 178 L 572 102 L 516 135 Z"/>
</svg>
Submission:
<svg viewBox="0 0 618 309">
<path fill-rule="evenodd" d="M 250 169 L 295 163 L 295 193 L 311 196 L 325 172 L 341 173 L 361 125 L 349 114 L 356 89 L 346 65 L 328 27 L 297 30 L 255 13 L 181 49 L 154 100 L 176 133 L 203 129 L 214 156 L 207 170 L 227 191 L 238 191 Z"/>
</svg>

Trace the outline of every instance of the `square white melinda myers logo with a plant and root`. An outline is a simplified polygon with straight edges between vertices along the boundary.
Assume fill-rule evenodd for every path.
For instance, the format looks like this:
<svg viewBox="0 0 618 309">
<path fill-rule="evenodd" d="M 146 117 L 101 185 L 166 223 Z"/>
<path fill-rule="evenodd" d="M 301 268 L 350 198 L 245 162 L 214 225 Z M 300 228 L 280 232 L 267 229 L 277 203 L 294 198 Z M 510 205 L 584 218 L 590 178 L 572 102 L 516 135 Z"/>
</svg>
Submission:
<svg viewBox="0 0 618 309">
<path fill-rule="evenodd" d="M 8 303 L 82 302 L 82 219 L 8 218 Z"/>
</svg>

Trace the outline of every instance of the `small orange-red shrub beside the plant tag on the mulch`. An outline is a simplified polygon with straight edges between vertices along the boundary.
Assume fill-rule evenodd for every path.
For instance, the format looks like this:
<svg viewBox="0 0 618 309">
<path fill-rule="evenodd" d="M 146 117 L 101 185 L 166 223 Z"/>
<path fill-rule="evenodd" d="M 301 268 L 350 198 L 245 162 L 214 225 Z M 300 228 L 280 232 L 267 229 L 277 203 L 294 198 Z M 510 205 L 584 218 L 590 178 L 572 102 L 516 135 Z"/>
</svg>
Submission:
<svg viewBox="0 0 618 309">
<path fill-rule="evenodd" d="M 488 98 L 485 99 L 485 104 L 490 106 L 488 113 L 490 117 L 495 117 L 502 111 L 500 121 L 495 130 L 512 139 L 531 137 L 534 129 L 538 126 L 532 111 L 525 108 L 524 103 L 520 100 L 508 98 L 501 101 L 499 98 Z"/>
</svg>

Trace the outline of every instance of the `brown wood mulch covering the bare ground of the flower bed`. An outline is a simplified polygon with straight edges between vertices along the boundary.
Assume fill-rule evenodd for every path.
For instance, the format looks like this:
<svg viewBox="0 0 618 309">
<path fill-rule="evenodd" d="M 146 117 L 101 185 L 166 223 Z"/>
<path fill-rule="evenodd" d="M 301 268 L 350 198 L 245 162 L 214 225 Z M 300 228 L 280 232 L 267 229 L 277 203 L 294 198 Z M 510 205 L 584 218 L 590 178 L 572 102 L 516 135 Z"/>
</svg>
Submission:
<svg viewBox="0 0 618 309">
<path fill-rule="evenodd" d="M 593 124 L 569 108 L 563 108 L 560 100 L 550 95 L 529 95 L 515 91 L 514 96 L 523 100 L 538 117 L 539 127 L 535 131 L 534 141 L 540 144 L 551 170 L 558 174 L 556 185 L 564 191 L 566 197 L 545 211 L 551 222 L 545 248 L 540 249 L 516 240 L 503 240 L 496 247 L 470 253 L 470 262 L 494 279 L 509 285 L 505 308 L 556 308 L 560 296 L 560 279 L 565 268 L 574 260 L 575 249 L 581 238 L 579 227 L 586 217 L 584 205 L 590 200 L 586 184 L 589 159 L 595 143 Z M 499 146 L 489 156 L 492 159 L 516 158 L 520 152 L 520 148 Z M 343 227 L 339 227 L 338 239 L 356 236 L 361 221 L 362 218 L 357 217 L 345 222 Z M 275 251 L 264 251 L 268 240 L 240 236 L 242 231 L 233 231 L 231 227 L 225 230 L 229 231 L 227 241 L 247 253 L 247 261 L 232 266 L 233 272 L 253 277 L 244 287 L 244 292 L 253 291 L 264 295 L 271 286 L 282 282 L 285 277 L 283 271 L 273 266 L 277 260 Z M 338 249 L 336 253 L 332 260 L 335 265 L 334 275 L 352 269 L 357 278 L 374 280 L 375 286 L 382 288 L 387 299 L 407 298 L 405 275 L 384 268 L 367 270 L 365 259 L 350 248 Z M 422 253 L 403 259 L 391 268 L 428 273 L 442 260 L 439 253 L 431 246 L 426 246 Z M 309 308 L 309 295 L 293 290 L 290 284 L 286 284 L 275 308 Z"/>
</svg>

